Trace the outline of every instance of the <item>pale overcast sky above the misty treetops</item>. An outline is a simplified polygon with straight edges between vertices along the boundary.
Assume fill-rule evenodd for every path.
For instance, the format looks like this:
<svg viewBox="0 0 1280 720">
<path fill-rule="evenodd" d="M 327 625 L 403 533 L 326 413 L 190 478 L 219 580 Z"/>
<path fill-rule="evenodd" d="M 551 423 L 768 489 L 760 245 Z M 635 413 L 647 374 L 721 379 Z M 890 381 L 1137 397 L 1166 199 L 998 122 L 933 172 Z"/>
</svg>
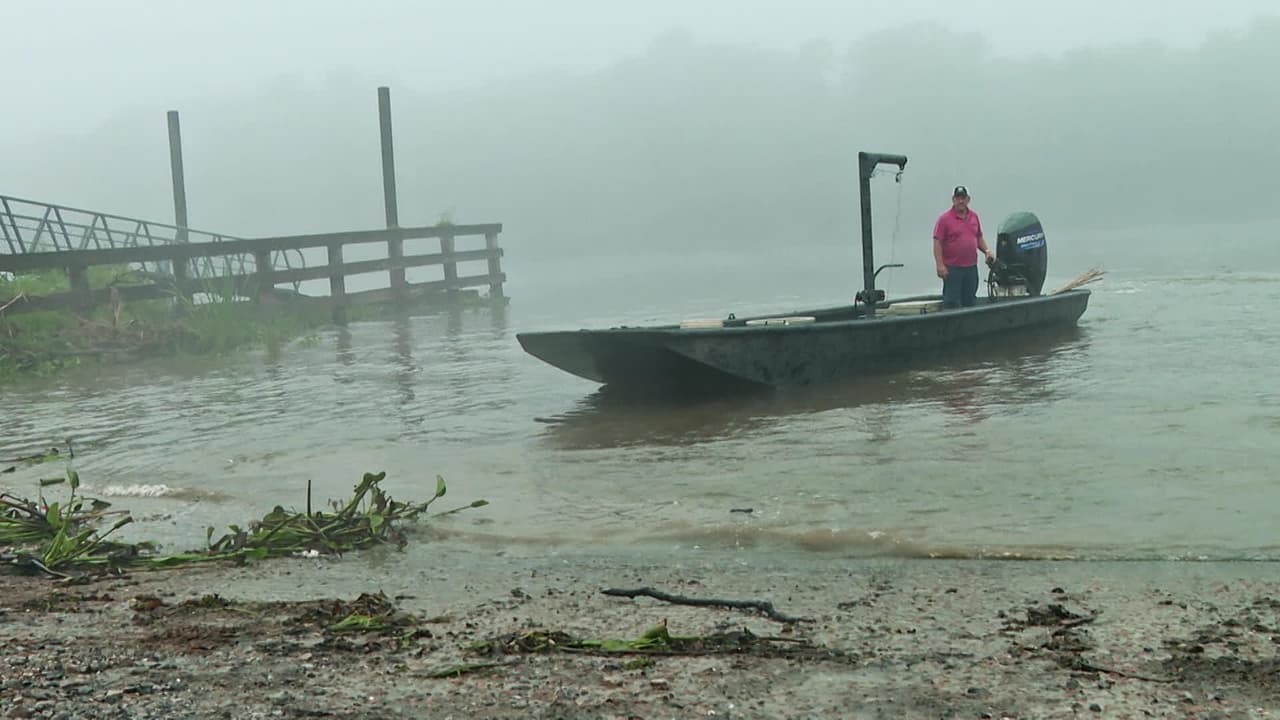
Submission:
<svg viewBox="0 0 1280 720">
<path fill-rule="evenodd" d="M 125 108 L 356 73 L 443 88 L 590 70 L 676 28 L 696 40 L 840 51 L 914 20 L 979 31 L 1000 55 L 1155 40 L 1188 47 L 1275 0 L 0 0 L 12 140 L 78 132 Z M 940 72 L 945 72 L 940 70 Z"/>
</svg>

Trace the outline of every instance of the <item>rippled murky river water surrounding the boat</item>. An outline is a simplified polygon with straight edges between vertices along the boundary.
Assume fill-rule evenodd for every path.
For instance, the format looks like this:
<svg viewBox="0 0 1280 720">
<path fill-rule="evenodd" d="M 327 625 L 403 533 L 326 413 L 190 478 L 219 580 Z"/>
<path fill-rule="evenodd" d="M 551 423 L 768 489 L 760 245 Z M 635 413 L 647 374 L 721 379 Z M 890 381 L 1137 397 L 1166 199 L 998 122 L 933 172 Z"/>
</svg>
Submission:
<svg viewBox="0 0 1280 720">
<path fill-rule="evenodd" d="M 1216 228 L 1059 234 L 1050 286 L 1107 270 L 1078 332 L 963 364 L 617 402 L 515 334 L 831 305 L 855 290 L 855 249 L 550 263 L 513 243 L 506 311 L 3 387 L 0 457 L 73 438 L 86 491 L 172 547 L 301 507 L 308 479 L 319 502 L 385 470 L 401 497 L 440 474 L 442 509 L 490 501 L 439 523 L 439 542 L 529 552 L 1280 559 L 1274 243 Z M 886 273 L 891 293 L 932 291 L 928 272 L 922 255 Z M 0 486 L 29 493 L 58 469 Z"/>
</svg>

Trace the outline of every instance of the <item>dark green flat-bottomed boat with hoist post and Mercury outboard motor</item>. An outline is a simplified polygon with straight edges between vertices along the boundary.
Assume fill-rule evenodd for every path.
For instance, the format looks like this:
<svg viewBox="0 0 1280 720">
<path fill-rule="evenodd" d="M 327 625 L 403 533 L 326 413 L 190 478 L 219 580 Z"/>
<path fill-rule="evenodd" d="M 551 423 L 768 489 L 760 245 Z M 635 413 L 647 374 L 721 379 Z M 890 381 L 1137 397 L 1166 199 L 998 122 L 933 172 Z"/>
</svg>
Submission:
<svg viewBox="0 0 1280 720">
<path fill-rule="evenodd" d="M 1001 223 L 988 296 L 975 305 L 943 309 L 938 295 L 887 301 L 876 290 L 876 277 L 884 268 L 874 268 L 870 236 L 869 181 L 882 163 L 896 164 L 901 172 L 906 158 L 859 152 L 864 287 L 852 305 L 516 337 L 530 355 L 609 388 L 714 392 L 895 370 L 1076 324 L 1088 307 L 1089 291 L 1041 295 L 1047 249 L 1043 227 L 1032 213 L 1015 213 Z"/>
</svg>

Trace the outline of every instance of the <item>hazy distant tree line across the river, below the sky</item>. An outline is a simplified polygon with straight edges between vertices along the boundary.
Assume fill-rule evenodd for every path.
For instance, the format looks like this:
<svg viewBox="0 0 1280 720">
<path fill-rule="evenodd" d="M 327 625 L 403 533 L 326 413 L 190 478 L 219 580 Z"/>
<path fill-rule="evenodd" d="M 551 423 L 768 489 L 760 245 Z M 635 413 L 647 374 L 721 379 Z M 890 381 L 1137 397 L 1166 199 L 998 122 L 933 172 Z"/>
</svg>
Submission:
<svg viewBox="0 0 1280 720">
<path fill-rule="evenodd" d="M 1277 35 L 1280 18 L 1260 18 L 1194 50 L 1007 59 L 932 26 L 844 51 L 677 32 L 596 73 L 393 87 L 401 217 L 500 220 L 548 254 L 852 236 L 859 150 L 911 158 L 902 222 L 922 236 L 961 182 L 988 215 L 1030 209 L 1060 227 L 1274 217 Z M 381 222 L 374 82 L 282 82 L 179 109 L 193 225 Z M 172 214 L 161 113 L 6 155 L 0 192 Z M 895 191 L 877 186 L 878 213 Z"/>
</svg>

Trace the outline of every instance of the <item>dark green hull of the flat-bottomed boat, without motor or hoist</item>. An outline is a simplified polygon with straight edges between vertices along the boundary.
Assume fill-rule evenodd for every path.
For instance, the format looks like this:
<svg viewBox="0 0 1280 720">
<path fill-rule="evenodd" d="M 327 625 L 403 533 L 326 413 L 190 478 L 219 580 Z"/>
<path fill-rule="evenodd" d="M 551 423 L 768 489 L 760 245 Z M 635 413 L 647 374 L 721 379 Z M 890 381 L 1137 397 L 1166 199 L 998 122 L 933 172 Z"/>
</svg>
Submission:
<svg viewBox="0 0 1280 720">
<path fill-rule="evenodd" d="M 915 300 L 915 299 L 905 299 Z M 900 369 L 1032 333 L 1074 327 L 1089 291 L 979 300 L 973 307 L 915 315 L 850 309 L 790 313 L 797 324 L 611 328 L 520 333 L 526 352 L 611 387 L 657 391 L 782 387 Z M 900 301 L 901 302 L 901 301 Z"/>
</svg>

